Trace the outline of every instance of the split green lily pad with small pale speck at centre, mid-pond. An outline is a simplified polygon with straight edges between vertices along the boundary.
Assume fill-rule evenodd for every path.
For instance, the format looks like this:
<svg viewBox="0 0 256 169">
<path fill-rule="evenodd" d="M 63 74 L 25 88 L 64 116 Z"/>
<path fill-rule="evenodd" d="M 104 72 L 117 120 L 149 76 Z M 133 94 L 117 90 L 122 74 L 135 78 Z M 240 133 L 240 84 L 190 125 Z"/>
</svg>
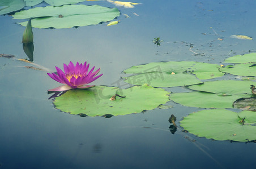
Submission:
<svg viewBox="0 0 256 169">
<path fill-rule="evenodd" d="M 197 79 L 211 79 L 221 77 L 219 65 L 197 63 L 194 61 L 169 61 L 166 63 L 149 63 L 146 65 L 132 66 L 124 73 L 133 73 L 126 78 L 127 83 L 141 85 L 148 83 L 155 87 L 173 87 L 198 84 Z M 195 77 L 195 75 L 197 77 Z"/>
</svg>

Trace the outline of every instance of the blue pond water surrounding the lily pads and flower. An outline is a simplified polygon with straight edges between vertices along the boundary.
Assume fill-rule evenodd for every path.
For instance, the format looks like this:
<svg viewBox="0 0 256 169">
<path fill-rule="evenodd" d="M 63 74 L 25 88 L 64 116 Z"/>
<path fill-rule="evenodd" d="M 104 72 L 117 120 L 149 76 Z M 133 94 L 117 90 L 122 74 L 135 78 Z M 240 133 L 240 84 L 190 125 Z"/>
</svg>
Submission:
<svg viewBox="0 0 256 169">
<path fill-rule="evenodd" d="M 133 65 L 156 61 L 220 64 L 227 57 L 256 51 L 254 40 L 230 38 L 234 34 L 256 37 L 255 1 L 131 2 L 142 4 L 118 7 L 121 21 L 114 26 L 33 28 L 33 62 L 55 72 L 54 66 L 87 61 L 103 73 L 93 84 L 118 87 L 122 71 Z M 82 4 L 115 7 L 105 1 Z M 29 64 L 16 60 L 27 57 L 21 43 L 24 27 L 11 18 L 0 16 L 0 53 L 15 55 L 0 58 L 0 168 L 254 166 L 254 143 L 206 139 L 182 132 L 182 127 L 175 134 L 169 131 L 171 114 L 179 126 L 182 117 L 199 108 L 169 101 L 173 108 L 111 118 L 80 117 L 55 109 L 47 90 L 58 83 L 45 71 L 24 68 Z M 153 44 L 156 37 L 164 41 L 161 46 Z M 194 55 L 190 45 L 202 55 Z"/>
</svg>

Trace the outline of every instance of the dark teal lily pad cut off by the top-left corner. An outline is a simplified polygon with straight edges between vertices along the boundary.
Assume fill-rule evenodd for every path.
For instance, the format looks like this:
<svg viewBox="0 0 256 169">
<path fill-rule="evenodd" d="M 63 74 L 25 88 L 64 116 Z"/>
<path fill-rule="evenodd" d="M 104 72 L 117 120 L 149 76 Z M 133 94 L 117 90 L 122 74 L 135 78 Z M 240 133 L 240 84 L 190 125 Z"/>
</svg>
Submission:
<svg viewBox="0 0 256 169">
<path fill-rule="evenodd" d="M 18 11 L 24 8 L 24 6 L 25 6 L 25 2 L 23 0 L 1 0 L 0 15 Z"/>
</svg>

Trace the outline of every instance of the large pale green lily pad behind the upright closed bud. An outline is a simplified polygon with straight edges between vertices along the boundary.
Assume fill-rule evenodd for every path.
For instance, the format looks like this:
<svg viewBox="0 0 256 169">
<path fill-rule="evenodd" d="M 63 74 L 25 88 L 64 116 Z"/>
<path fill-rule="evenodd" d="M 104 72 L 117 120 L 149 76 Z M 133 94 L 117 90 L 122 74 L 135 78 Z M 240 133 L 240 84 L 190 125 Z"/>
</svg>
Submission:
<svg viewBox="0 0 256 169">
<path fill-rule="evenodd" d="M 120 15 L 117 8 L 107 8 L 99 5 L 63 5 L 36 7 L 26 11 L 16 12 L 14 19 L 29 19 L 34 28 L 72 28 L 74 26 L 96 25 L 103 21 L 113 20 Z M 27 21 L 19 23 L 27 25 Z"/>
</svg>

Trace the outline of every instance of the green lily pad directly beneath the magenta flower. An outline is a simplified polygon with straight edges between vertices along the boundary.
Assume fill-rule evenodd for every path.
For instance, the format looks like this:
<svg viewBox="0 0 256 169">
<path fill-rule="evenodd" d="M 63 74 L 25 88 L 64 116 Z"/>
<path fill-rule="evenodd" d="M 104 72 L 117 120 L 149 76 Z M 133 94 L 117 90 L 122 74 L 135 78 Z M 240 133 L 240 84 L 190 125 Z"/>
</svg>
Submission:
<svg viewBox="0 0 256 169">
<path fill-rule="evenodd" d="M 110 100 L 113 95 L 116 100 Z M 57 109 L 70 114 L 125 115 L 152 110 L 169 101 L 168 92 L 162 88 L 153 88 L 144 84 L 125 90 L 117 87 L 96 86 L 87 90 L 70 90 L 56 97 L 54 105 Z"/>
</svg>

